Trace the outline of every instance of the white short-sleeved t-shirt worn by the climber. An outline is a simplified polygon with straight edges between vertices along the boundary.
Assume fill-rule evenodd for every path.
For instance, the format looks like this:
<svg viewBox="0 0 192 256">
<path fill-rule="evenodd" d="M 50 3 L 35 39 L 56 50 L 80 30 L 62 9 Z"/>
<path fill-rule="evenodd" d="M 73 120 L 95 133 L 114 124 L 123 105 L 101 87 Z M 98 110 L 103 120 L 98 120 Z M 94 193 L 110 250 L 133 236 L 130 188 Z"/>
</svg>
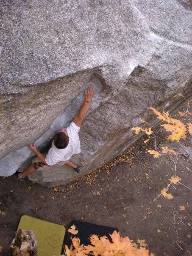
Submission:
<svg viewBox="0 0 192 256">
<path fill-rule="evenodd" d="M 81 152 L 81 146 L 79 141 L 78 132 L 80 127 L 78 127 L 74 122 L 67 127 L 67 133 L 69 136 L 69 144 L 64 149 L 58 149 L 54 142 L 52 142 L 51 148 L 45 158 L 48 165 L 57 164 L 60 161 L 69 160 L 73 154 L 78 154 Z"/>
</svg>

